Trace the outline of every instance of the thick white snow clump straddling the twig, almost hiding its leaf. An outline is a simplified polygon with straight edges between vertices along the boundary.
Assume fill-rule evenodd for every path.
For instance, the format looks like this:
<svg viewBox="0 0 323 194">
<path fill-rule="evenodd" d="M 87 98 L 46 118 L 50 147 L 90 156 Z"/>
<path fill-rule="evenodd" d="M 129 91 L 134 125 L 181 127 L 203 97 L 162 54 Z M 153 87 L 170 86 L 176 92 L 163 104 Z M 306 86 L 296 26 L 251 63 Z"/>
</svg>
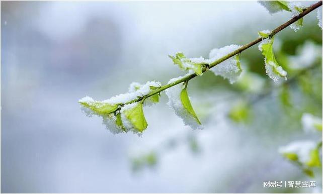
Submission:
<svg viewBox="0 0 323 194">
<path fill-rule="evenodd" d="M 233 52 L 234 50 L 238 49 L 239 45 L 229 45 L 222 47 L 220 49 L 212 49 L 209 54 L 210 63 L 220 59 L 221 57 Z M 215 75 L 221 75 L 224 78 L 229 79 L 230 83 L 234 83 L 241 74 L 241 67 L 238 55 L 235 55 L 219 64 L 215 67 L 210 69 L 214 72 Z"/>
</svg>

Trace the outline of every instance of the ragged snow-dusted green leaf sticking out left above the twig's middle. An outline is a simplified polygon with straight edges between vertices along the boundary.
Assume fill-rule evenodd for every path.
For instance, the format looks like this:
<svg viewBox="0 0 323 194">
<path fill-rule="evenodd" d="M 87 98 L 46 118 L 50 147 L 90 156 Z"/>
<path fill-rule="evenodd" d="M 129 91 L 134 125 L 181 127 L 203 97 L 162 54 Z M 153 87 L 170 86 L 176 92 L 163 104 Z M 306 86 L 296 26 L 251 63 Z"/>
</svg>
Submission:
<svg viewBox="0 0 323 194">
<path fill-rule="evenodd" d="M 186 56 L 178 52 L 175 56 L 169 55 L 174 64 L 178 65 L 183 70 L 195 72 L 197 75 L 202 75 L 203 65 L 208 65 L 209 61 L 203 57 L 199 58 L 186 58 Z"/>
</svg>

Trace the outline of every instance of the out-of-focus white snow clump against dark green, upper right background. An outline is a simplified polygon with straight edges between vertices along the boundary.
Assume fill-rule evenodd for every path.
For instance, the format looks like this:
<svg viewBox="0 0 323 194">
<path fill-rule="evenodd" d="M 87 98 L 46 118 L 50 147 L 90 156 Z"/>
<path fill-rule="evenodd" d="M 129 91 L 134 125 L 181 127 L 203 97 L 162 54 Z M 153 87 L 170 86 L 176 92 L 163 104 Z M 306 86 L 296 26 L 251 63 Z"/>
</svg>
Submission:
<svg viewBox="0 0 323 194">
<path fill-rule="evenodd" d="M 310 67 L 321 56 L 321 53 L 321 46 L 312 41 L 306 41 L 302 46 L 297 47 L 296 56 L 288 57 L 290 67 L 293 69 Z"/>
</svg>

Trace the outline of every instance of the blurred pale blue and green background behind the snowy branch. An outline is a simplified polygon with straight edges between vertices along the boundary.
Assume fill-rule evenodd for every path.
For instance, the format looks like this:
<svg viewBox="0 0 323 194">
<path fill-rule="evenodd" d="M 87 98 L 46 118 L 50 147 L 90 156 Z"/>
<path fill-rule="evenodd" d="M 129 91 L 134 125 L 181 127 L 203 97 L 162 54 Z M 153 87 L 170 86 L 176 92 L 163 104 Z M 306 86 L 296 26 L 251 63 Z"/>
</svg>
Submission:
<svg viewBox="0 0 323 194">
<path fill-rule="evenodd" d="M 257 2 L 1 2 L 1 192 L 321 192 L 321 168 L 310 178 L 277 151 L 321 138 L 300 122 L 305 112 L 322 116 L 316 11 L 299 32 L 275 36 L 287 86 L 266 76 L 258 46 L 241 54 L 237 83 L 212 72 L 190 82 L 203 130 L 185 127 L 165 93 L 144 108 L 142 137 L 113 135 L 77 103 L 124 93 L 132 81 L 166 84 L 185 74 L 168 54 L 208 58 L 289 18 Z M 300 59 L 312 67 L 291 68 Z M 264 180 L 316 187 L 264 188 Z"/>
</svg>

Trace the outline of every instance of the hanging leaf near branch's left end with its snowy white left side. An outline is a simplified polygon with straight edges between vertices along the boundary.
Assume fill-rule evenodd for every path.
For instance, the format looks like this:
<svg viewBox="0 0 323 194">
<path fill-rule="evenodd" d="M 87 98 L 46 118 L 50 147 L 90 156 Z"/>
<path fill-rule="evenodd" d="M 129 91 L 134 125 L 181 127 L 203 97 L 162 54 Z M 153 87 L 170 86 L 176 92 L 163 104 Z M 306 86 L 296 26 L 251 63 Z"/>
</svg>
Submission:
<svg viewBox="0 0 323 194">
<path fill-rule="evenodd" d="M 148 126 L 142 110 L 142 102 L 125 105 L 121 108 L 121 121 L 127 130 L 142 133 Z"/>
</svg>

